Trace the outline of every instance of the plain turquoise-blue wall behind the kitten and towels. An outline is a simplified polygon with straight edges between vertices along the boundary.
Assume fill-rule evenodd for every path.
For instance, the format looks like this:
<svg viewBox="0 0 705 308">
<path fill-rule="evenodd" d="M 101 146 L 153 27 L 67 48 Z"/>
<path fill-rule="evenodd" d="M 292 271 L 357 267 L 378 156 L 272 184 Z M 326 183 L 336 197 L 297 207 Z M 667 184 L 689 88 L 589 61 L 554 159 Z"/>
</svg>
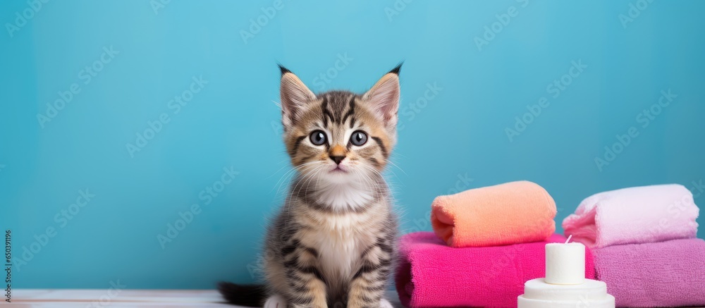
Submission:
<svg viewBox="0 0 705 308">
<path fill-rule="evenodd" d="M 49 1 L 26 23 L 16 12 L 30 4 L 0 4 L 0 228 L 26 261 L 14 288 L 256 278 L 290 170 L 276 61 L 313 90 L 362 92 L 405 60 L 388 172 L 405 231 L 430 230 L 436 195 L 510 180 L 546 187 L 559 224 L 602 190 L 704 189 L 703 1 L 644 2 L 625 24 L 630 1 L 158 1 Z M 669 89 L 678 96 L 655 107 Z M 630 127 L 638 136 L 598 167 Z M 216 183 L 230 179 L 223 168 L 237 173 L 229 184 Z M 72 206 L 81 193 L 94 196 Z"/>
</svg>

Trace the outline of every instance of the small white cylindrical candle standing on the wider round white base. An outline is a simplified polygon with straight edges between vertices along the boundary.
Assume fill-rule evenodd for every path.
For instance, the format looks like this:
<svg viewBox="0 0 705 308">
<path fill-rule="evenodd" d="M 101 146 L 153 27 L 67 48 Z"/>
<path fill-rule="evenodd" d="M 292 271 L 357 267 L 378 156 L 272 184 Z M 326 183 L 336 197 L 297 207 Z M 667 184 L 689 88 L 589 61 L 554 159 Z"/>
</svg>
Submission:
<svg viewBox="0 0 705 308">
<path fill-rule="evenodd" d="M 579 242 L 546 244 L 546 283 L 578 285 L 585 282 L 585 246 Z"/>
</svg>

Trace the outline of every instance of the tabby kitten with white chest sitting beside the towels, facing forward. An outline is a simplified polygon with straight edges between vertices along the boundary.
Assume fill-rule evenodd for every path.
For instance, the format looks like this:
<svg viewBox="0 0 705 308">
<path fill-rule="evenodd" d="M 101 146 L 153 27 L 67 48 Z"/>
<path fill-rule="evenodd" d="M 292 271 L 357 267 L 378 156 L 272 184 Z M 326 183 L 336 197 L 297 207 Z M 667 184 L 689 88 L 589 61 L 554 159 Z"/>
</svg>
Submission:
<svg viewBox="0 0 705 308">
<path fill-rule="evenodd" d="M 297 175 L 267 230 L 267 285 L 219 289 L 233 304 L 266 308 L 392 307 L 383 295 L 397 223 L 381 172 L 396 143 L 400 66 L 364 94 L 314 94 L 280 68 L 283 137 Z"/>
</svg>

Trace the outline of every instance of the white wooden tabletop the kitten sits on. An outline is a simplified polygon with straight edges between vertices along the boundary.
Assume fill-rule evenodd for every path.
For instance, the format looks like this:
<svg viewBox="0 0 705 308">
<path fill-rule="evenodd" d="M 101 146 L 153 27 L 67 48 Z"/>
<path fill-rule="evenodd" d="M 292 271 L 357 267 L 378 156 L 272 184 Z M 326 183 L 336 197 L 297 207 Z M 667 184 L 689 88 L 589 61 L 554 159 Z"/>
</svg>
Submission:
<svg viewBox="0 0 705 308">
<path fill-rule="evenodd" d="M 216 290 L 43 290 L 20 289 L 12 291 L 12 302 L 0 303 L 4 307 L 239 307 L 223 302 Z M 394 307 L 399 304 L 395 292 L 387 299 Z"/>
</svg>

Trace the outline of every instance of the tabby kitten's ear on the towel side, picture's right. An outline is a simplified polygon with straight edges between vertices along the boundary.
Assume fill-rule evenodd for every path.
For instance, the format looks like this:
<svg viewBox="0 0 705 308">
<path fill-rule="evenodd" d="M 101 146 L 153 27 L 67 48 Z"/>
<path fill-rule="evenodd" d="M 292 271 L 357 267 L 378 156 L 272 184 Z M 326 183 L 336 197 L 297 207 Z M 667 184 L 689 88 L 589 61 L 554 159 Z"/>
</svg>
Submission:
<svg viewBox="0 0 705 308">
<path fill-rule="evenodd" d="M 401 64 L 384 74 L 372 89 L 362 96 L 370 106 L 377 112 L 388 128 L 396 127 L 397 113 L 399 111 L 399 70 Z"/>
</svg>

